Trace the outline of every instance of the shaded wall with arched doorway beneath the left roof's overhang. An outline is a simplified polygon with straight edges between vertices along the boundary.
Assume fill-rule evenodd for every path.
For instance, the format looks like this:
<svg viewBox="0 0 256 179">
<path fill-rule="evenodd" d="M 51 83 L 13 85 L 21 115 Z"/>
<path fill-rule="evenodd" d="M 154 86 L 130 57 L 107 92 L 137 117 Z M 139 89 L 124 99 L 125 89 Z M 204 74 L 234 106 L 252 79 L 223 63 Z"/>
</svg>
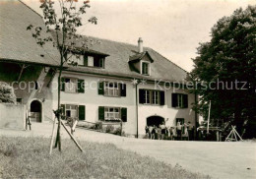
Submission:
<svg viewBox="0 0 256 179">
<path fill-rule="evenodd" d="M 18 82 L 21 73 L 21 65 L 14 63 L 0 63 L 0 81 L 10 84 L 14 88 L 17 98 L 22 98 L 22 104 L 30 112 L 33 100 L 41 103 L 42 122 L 52 119 L 52 93 L 47 87 L 51 74 L 49 68 L 27 65 Z M 37 82 L 38 89 L 35 89 Z"/>
</svg>

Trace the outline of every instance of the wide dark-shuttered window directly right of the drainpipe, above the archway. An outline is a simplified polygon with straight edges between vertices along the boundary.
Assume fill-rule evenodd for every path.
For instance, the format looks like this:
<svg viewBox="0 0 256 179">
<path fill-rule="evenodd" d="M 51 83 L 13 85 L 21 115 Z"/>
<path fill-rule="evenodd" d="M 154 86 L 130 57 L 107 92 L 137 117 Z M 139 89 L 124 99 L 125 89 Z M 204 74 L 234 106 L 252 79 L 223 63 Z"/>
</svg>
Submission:
<svg viewBox="0 0 256 179">
<path fill-rule="evenodd" d="M 164 91 L 139 89 L 139 102 L 141 104 L 164 105 L 164 100 Z"/>
</svg>

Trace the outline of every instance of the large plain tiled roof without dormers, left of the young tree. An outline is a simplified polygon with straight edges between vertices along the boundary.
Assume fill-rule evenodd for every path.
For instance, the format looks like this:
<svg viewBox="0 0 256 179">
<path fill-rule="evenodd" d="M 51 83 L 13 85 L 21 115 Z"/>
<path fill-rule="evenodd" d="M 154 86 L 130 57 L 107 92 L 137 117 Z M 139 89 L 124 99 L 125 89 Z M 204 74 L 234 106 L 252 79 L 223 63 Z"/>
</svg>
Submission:
<svg viewBox="0 0 256 179">
<path fill-rule="evenodd" d="M 43 28 L 42 18 L 18 0 L 0 1 L 0 60 L 57 65 L 58 52 L 51 44 L 44 48 L 32 38 L 29 25 Z M 50 34 L 42 33 L 42 36 Z"/>
</svg>

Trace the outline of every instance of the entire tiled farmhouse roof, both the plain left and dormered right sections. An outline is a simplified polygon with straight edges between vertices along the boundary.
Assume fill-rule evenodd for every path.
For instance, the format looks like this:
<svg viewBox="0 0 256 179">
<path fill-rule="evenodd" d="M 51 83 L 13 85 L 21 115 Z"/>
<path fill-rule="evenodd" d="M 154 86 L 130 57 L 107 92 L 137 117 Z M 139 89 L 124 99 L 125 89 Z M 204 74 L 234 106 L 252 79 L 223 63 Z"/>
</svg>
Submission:
<svg viewBox="0 0 256 179">
<path fill-rule="evenodd" d="M 30 24 L 44 27 L 41 17 L 20 1 L 0 2 L 0 60 L 57 65 L 57 49 L 50 44 L 45 45 L 46 53 L 39 47 L 32 38 L 31 31 L 27 30 Z M 148 80 L 161 79 L 170 82 L 181 82 L 186 78 L 187 73 L 183 69 L 152 48 L 144 48 L 154 63 L 151 66 L 151 76 L 143 76 L 132 71 L 128 63 L 130 57 L 138 54 L 137 45 L 92 36 L 84 38 L 99 41 L 90 47 L 91 51 L 109 55 L 105 58 L 105 69 L 69 66 L 68 71 Z M 41 54 L 44 57 L 41 57 Z"/>
</svg>

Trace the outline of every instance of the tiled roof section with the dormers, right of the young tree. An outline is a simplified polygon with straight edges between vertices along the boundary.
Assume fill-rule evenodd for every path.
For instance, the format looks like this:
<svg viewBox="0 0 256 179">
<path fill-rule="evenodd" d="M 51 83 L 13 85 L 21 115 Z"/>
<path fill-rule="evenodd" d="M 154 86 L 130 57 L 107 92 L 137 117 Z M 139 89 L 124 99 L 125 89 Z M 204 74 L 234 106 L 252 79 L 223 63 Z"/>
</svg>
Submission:
<svg viewBox="0 0 256 179">
<path fill-rule="evenodd" d="M 55 31 L 52 31 L 52 36 L 56 39 Z M 92 50 L 109 54 L 109 56 L 105 58 L 105 69 L 70 66 L 68 69 L 70 71 L 129 78 L 144 78 L 148 80 L 161 79 L 170 82 L 181 82 L 186 78 L 186 71 L 164 58 L 152 48 L 144 47 L 145 52 L 139 54 L 137 52 L 137 45 L 101 39 L 93 36 L 83 36 L 83 38 L 85 41 L 93 41 L 94 45 L 90 47 Z M 81 46 L 82 42 L 76 42 L 76 44 Z M 144 76 L 136 71 L 132 71 L 129 65 L 130 57 L 138 54 L 139 56 L 144 56 L 147 53 L 149 53 L 154 61 L 151 66 L 151 76 Z"/>
</svg>

